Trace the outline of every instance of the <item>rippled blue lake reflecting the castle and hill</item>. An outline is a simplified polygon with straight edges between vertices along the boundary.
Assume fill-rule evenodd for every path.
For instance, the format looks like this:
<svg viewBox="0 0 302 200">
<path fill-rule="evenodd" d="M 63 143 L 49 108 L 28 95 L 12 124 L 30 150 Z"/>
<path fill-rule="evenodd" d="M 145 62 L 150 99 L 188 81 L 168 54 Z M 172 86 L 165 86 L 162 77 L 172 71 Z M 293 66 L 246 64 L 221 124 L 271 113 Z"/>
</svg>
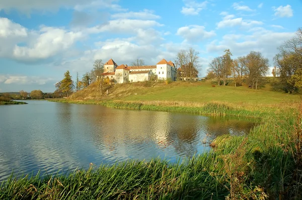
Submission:
<svg viewBox="0 0 302 200">
<path fill-rule="evenodd" d="M 0 180 L 113 164 L 127 159 L 170 162 L 208 151 L 222 134 L 249 133 L 257 122 L 233 117 L 132 111 L 100 105 L 24 101 L 0 106 Z"/>
</svg>

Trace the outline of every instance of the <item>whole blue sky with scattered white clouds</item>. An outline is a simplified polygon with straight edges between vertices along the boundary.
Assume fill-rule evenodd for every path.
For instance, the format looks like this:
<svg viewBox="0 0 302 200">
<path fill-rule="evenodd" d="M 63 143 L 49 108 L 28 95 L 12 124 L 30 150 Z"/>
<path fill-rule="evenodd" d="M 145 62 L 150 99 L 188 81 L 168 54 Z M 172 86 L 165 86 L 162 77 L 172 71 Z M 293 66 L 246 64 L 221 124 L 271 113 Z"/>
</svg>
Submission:
<svg viewBox="0 0 302 200">
<path fill-rule="evenodd" d="M 154 65 L 181 49 L 199 51 L 206 74 L 213 57 L 260 51 L 273 65 L 301 25 L 302 1 L 0 0 L 0 92 L 55 90 L 95 59 Z"/>
</svg>

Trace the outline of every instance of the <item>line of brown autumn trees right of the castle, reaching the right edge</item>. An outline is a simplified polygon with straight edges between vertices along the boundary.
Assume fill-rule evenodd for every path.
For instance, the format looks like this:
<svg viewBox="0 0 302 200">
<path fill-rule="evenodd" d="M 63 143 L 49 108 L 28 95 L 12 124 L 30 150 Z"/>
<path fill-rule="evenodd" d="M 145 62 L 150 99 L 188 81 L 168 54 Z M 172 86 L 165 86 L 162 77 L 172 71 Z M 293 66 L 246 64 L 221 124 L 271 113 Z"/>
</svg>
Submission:
<svg viewBox="0 0 302 200">
<path fill-rule="evenodd" d="M 272 75 L 279 76 L 274 86 L 289 93 L 298 93 L 302 89 L 302 29 L 296 36 L 278 47 L 279 53 L 274 56 Z M 215 57 L 207 70 L 208 79 L 216 79 L 218 85 L 226 85 L 232 79 L 235 86 L 243 83 L 250 88 L 258 89 L 263 77 L 268 74 L 269 60 L 260 52 L 251 51 L 245 56 L 231 58 L 230 49 L 224 50 L 222 56 Z"/>
</svg>

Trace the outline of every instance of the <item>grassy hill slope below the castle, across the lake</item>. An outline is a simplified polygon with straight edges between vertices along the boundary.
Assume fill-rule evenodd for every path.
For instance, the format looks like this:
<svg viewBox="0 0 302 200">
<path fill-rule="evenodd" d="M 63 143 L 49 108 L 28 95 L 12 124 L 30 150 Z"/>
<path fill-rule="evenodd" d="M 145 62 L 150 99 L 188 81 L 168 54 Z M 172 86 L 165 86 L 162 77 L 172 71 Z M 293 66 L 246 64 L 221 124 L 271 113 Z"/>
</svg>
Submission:
<svg viewBox="0 0 302 200">
<path fill-rule="evenodd" d="M 88 88 L 72 94 L 69 99 L 75 101 L 106 101 L 121 100 L 131 102 L 144 102 L 150 104 L 155 101 L 183 102 L 204 104 L 208 102 L 232 105 L 263 105 L 273 107 L 276 105 L 291 105 L 300 100 L 299 95 L 287 94 L 269 90 L 266 84 L 262 89 L 250 89 L 246 86 L 215 86 L 210 82 L 172 82 L 166 84 L 158 82 L 135 82 L 108 86 L 103 94 L 96 83 Z"/>
</svg>

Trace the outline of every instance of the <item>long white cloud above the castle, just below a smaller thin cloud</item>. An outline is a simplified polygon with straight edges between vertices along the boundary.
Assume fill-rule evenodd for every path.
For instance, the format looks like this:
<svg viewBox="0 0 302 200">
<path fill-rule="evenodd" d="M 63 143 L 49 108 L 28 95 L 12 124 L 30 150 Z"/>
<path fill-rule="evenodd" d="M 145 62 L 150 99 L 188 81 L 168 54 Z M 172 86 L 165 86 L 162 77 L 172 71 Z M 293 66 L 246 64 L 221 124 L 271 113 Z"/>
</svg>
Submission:
<svg viewBox="0 0 302 200">
<path fill-rule="evenodd" d="M 135 29 L 149 28 L 154 26 L 163 26 L 160 23 L 153 20 L 130 20 L 130 19 L 118 19 L 111 20 L 104 25 L 98 25 L 92 28 L 88 28 L 88 33 L 101 33 L 101 32 L 114 32 L 114 33 L 135 33 Z"/>
</svg>

